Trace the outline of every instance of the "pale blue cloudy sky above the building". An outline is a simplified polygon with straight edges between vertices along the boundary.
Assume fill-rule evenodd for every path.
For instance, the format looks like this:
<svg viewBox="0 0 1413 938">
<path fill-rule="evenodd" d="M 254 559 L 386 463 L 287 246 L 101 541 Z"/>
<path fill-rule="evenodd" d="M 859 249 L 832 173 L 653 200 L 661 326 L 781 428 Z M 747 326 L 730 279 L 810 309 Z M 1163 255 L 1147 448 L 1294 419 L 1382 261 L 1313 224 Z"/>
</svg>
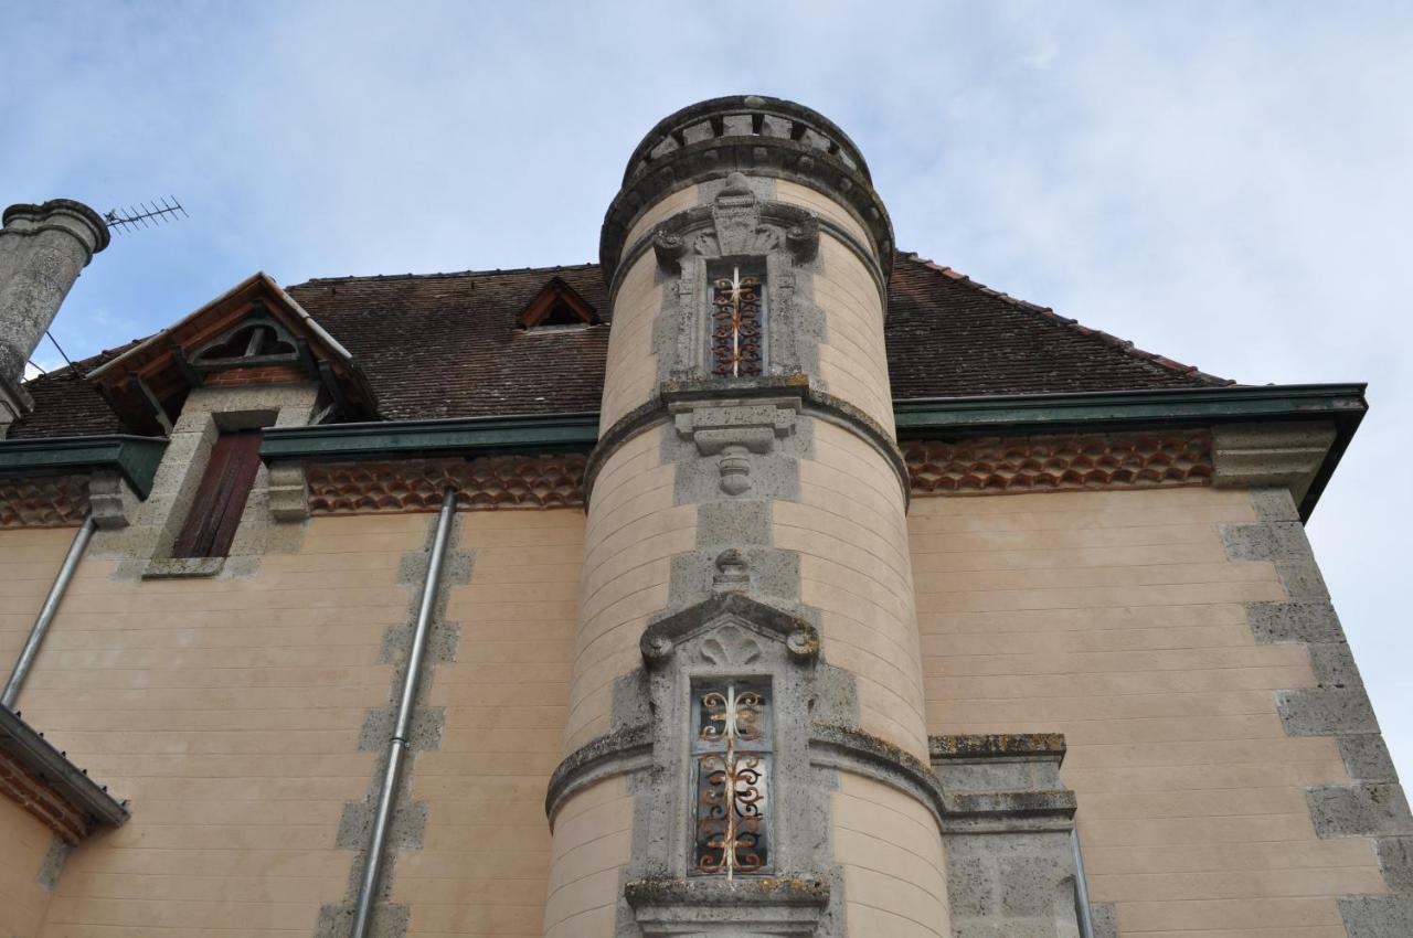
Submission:
<svg viewBox="0 0 1413 938">
<path fill-rule="evenodd" d="M 649 127 L 764 93 L 853 137 L 904 250 L 1242 383 L 1368 381 L 1308 533 L 1413 778 L 1413 4 L 0 0 L 0 205 L 191 215 L 97 256 L 71 357 L 256 270 L 596 260 Z"/>
</svg>

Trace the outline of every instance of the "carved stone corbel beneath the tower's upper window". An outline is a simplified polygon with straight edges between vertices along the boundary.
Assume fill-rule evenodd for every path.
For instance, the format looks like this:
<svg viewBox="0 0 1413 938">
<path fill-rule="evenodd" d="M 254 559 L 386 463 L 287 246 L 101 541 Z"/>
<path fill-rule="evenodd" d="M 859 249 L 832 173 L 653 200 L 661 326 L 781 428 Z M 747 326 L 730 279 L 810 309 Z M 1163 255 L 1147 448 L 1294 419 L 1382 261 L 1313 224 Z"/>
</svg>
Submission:
<svg viewBox="0 0 1413 938">
<path fill-rule="evenodd" d="M 803 401 L 798 397 L 711 404 L 673 404 L 677 435 L 697 445 L 702 456 L 719 456 L 721 490 L 750 490 L 747 453 L 769 453 L 777 439 L 794 432 Z"/>
</svg>

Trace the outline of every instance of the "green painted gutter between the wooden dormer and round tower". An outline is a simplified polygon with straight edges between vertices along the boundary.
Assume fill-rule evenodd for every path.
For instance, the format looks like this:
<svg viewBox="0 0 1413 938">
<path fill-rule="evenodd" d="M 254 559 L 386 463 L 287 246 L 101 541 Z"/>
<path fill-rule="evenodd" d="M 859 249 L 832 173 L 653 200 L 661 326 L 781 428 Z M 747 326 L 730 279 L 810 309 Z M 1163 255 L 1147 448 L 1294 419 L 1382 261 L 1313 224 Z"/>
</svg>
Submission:
<svg viewBox="0 0 1413 938">
<path fill-rule="evenodd" d="M 367 456 L 456 456 L 485 452 L 584 451 L 599 438 L 598 414 L 410 420 L 376 424 L 273 427 L 260 456 L 274 459 L 359 459 Z"/>
</svg>

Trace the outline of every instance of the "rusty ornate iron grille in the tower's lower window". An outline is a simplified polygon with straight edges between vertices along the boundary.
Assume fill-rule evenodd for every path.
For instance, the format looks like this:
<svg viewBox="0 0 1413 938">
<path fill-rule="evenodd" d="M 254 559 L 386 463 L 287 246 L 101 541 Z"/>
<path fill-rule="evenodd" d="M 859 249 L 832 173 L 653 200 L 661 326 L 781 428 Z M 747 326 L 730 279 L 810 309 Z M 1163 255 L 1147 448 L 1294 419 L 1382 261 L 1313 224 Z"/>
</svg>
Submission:
<svg viewBox="0 0 1413 938">
<path fill-rule="evenodd" d="M 692 869 L 701 874 L 762 873 L 770 867 L 769 694 L 726 682 L 698 688 L 697 836 Z"/>
</svg>

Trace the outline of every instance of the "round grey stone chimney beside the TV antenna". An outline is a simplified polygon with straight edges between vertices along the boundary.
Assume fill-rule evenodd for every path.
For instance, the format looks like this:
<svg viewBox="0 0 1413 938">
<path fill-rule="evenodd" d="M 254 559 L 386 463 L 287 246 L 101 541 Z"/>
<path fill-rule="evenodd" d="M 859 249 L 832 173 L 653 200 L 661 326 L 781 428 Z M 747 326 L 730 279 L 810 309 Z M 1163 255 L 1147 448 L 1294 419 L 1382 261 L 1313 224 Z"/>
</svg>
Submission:
<svg viewBox="0 0 1413 938">
<path fill-rule="evenodd" d="M 79 271 L 107 247 L 102 216 L 72 199 L 11 205 L 0 227 L 0 438 L 34 403 L 24 364 Z"/>
</svg>

